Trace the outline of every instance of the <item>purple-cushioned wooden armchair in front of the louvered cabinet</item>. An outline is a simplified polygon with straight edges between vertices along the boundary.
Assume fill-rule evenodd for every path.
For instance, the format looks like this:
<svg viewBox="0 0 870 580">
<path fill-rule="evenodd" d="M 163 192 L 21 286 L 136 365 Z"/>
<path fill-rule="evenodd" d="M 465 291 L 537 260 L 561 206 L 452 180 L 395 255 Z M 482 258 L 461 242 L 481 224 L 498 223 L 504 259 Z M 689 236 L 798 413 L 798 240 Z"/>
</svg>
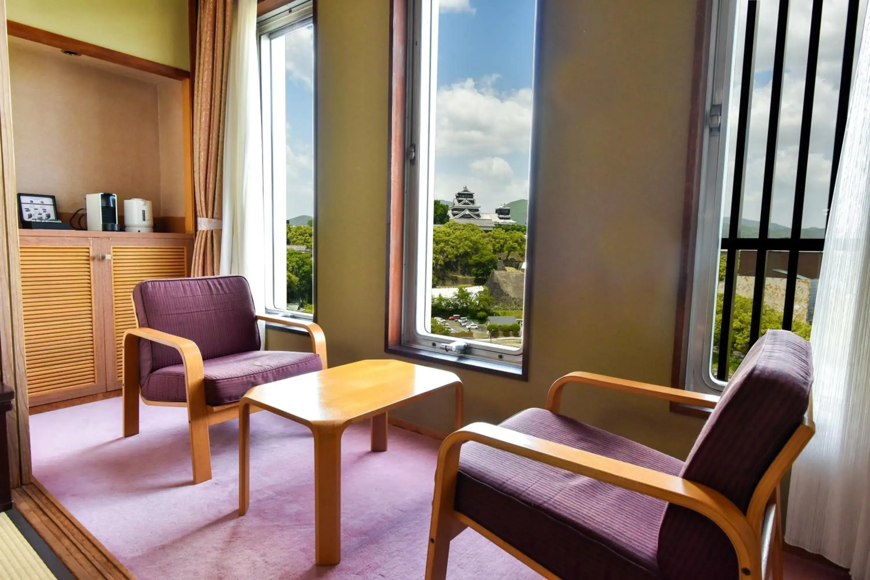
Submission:
<svg viewBox="0 0 870 580">
<path fill-rule="evenodd" d="M 133 289 L 138 328 L 124 333 L 124 437 L 146 404 L 186 406 L 193 483 L 211 479 L 209 425 L 238 417 L 251 387 L 326 368 L 315 323 L 258 316 L 241 276 L 146 280 Z M 308 331 L 312 352 L 260 350 L 257 321 Z"/>
</svg>

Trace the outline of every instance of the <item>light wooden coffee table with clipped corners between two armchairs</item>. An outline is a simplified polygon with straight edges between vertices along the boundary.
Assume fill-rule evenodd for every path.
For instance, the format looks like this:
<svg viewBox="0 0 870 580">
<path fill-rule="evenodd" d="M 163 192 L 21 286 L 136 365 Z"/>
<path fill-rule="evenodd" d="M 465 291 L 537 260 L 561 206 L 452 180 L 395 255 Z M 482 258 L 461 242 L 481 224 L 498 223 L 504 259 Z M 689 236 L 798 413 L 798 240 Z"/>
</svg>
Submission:
<svg viewBox="0 0 870 580">
<path fill-rule="evenodd" d="M 238 514 L 248 510 L 251 407 L 302 423 L 314 436 L 314 551 L 318 565 L 341 560 L 341 435 L 371 417 L 371 450 L 386 450 L 387 411 L 456 389 L 456 428 L 462 427 L 462 383 L 452 372 L 397 360 L 345 364 L 249 390 L 239 403 Z"/>
</svg>

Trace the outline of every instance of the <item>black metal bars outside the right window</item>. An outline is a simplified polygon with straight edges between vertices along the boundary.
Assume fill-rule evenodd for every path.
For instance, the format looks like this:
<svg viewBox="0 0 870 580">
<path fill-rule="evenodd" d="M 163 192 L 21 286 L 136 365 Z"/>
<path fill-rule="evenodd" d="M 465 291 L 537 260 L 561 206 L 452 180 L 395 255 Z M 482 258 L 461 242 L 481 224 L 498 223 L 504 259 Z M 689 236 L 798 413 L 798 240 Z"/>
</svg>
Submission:
<svg viewBox="0 0 870 580">
<path fill-rule="evenodd" d="M 819 63 L 819 46 L 824 0 L 813 0 L 810 17 L 809 39 L 807 46 L 806 80 L 804 85 L 803 108 L 800 122 L 800 138 L 797 153 L 797 175 L 794 187 L 791 235 L 789 237 L 770 237 L 771 206 L 773 184 L 776 175 L 777 139 L 780 130 L 780 108 L 782 105 L 782 86 L 785 74 L 786 43 L 788 41 L 789 0 L 780 0 L 777 12 L 776 38 L 773 50 L 773 78 L 771 80 L 770 115 L 767 124 L 764 177 L 761 185 L 761 208 L 758 237 L 740 237 L 743 201 L 746 193 L 746 152 L 749 142 L 749 120 L 752 114 L 753 88 L 755 76 L 755 53 L 759 28 L 759 2 L 748 0 L 746 5 L 746 33 L 742 38 L 743 58 L 740 70 L 739 116 L 736 124 L 736 150 L 734 154 L 733 189 L 730 205 L 730 218 L 727 229 L 723 228 L 721 252 L 725 256 L 724 290 L 722 294 L 721 322 L 719 326 L 718 353 L 714 353 L 715 376 L 726 381 L 732 367 L 734 310 L 737 298 L 739 276 L 754 276 L 752 317 L 749 329 L 748 346 L 758 340 L 763 333 L 763 307 L 765 300 L 766 278 L 785 277 L 785 297 L 781 328 L 793 330 L 794 301 L 799 278 L 800 257 L 802 252 L 822 252 L 824 238 L 802 237 L 806 178 L 810 157 L 810 137 L 813 125 L 813 103 L 815 98 L 816 72 Z M 840 93 L 837 117 L 834 128 L 833 167 L 831 170 L 830 190 L 827 209 L 831 208 L 833 190 L 840 161 L 840 150 L 846 131 L 849 92 L 852 85 L 855 37 L 858 30 L 860 0 L 848 0 L 843 45 L 842 67 L 840 71 Z M 739 39 L 740 40 L 740 39 Z M 826 217 L 827 220 L 827 217 Z M 754 260 L 741 260 L 741 252 Z M 768 252 L 787 252 L 786 270 L 776 268 L 768 259 Z M 741 268 L 741 262 L 743 268 Z M 746 263 L 754 262 L 754 272 L 746 271 Z M 781 260 L 777 260 L 781 262 Z M 806 270 L 806 268 L 805 268 Z M 772 274 L 773 273 L 773 274 Z"/>
</svg>

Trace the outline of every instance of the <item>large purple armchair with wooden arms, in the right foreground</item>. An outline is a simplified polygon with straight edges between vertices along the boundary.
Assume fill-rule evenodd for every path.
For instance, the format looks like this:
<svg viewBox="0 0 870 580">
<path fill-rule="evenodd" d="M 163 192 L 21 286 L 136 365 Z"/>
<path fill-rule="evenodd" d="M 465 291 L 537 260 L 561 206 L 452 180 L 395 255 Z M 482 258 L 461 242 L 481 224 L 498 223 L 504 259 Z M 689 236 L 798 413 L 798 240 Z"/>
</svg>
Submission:
<svg viewBox="0 0 870 580">
<path fill-rule="evenodd" d="M 559 415 L 567 383 L 713 412 L 682 462 Z M 755 343 L 721 397 L 561 377 L 546 410 L 473 423 L 441 445 L 427 580 L 445 577 L 465 527 L 547 578 L 781 580 L 780 479 L 813 437 L 812 383 L 809 343 L 785 330 Z"/>
</svg>

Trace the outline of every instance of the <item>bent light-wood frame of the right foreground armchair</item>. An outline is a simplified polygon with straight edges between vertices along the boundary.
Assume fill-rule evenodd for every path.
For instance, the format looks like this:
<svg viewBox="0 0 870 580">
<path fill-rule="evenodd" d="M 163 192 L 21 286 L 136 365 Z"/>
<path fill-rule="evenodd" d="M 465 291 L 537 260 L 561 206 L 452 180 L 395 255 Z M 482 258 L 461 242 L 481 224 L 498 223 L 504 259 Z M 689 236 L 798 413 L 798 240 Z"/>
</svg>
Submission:
<svg viewBox="0 0 870 580">
<path fill-rule="evenodd" d="M 719 397 L 688 390 L 626 381 L 586 372 L 574 372 L 560 377 L 552 384 L 547 396 L 547 410 L 554 413 L 559 412 L 562 390 L 568 383 L 591 384 L 675 403 L 693 404 L 708 409 L 712 409 L 719 402 Z M 773 580 L 781 580 L 780 480 L 815 432 L 812 393 L 810 395 L 810 404 L 803 423 L 794 431 L 780 454 L 761 477 L 753 492 L 746 514 L 718 491 L 682 477 L 574 449 L 567 445 L 553 443 L 497 425 L 472 423 L 448 436 L 438 450 L 435 496 L 432 501 L 432 526 L 429 532 L 429 553 L 426 559 L 426 580 L 443 580 L 445 578 L 450 542 L 466 527 L 478 531 L 479 534 L 528 565 L 532 570 L 537 571 L 541 576 L 558 578 L 550 570 L 546 570 L 530 557 L 505 543 L 470 517 L 453 510 L 459 450 L 462 443 L 466 441 L 482 443 L 494 449 L 505 450 L 582 476 L 599 479 L 626 490 L 659 497 L 667 502 L 697 511 L 713 520 L 731 540 L 737 553 L 740 568 L 740 570 L 734 570 L 735 578 L 764 580 L 767 577 L 767 572 L 770 571 Z"/>
</svg>

